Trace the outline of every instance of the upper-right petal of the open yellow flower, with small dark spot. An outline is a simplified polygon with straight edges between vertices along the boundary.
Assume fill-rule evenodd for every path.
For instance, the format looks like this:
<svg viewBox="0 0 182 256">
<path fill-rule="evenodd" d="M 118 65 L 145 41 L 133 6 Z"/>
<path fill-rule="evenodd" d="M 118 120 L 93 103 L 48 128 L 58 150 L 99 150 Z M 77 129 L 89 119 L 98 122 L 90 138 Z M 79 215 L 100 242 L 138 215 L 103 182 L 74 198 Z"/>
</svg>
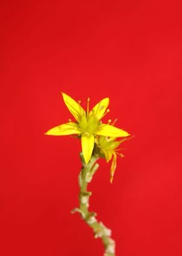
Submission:
<svg viewBox="0 0 182 256">
<path fill-rule="evenodd" d="M 94 106 L 94 108 L 92 108 L 92 110 L 89 113 L 89 116 L 94 115 L 97 120 L 101 120 L 108 105 L 109 98 L 102 99 L 101 101 L 99 101 L 98 104 L 96 104 L 96 106 Z"/>
</svg>

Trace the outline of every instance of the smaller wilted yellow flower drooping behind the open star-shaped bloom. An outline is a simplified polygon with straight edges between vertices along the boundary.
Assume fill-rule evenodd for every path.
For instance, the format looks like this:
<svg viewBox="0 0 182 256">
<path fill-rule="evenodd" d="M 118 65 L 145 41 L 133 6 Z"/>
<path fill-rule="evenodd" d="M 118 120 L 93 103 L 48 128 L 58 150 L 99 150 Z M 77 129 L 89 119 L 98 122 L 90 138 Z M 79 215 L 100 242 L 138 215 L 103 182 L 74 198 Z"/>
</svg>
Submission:
<svg viewBox="0 0 182 256">
<path fill-rule="evenodd" d="M 132 138 L 132 137 L 129 137 Z M 98 136 L 96 139 L 96 144 L 98 145 L 99 154 L 103 157 L 105 157 L 107 163 L 112 159 L 112 164 L 110 167 L 110 183 L 113 181 L 114 172 L 116 170 L 116 160 L 117 155 L 120 155 L 120 157 L 124 157 L 122 153 L 119 153 L 118 151 L 120 149 L 117 149 L 120 144 L 129 139 L 129 138 L 123 138 L 122 140 L 116 140 L 116 137 L 107 137 L 107 136 Z"/>
</svg>

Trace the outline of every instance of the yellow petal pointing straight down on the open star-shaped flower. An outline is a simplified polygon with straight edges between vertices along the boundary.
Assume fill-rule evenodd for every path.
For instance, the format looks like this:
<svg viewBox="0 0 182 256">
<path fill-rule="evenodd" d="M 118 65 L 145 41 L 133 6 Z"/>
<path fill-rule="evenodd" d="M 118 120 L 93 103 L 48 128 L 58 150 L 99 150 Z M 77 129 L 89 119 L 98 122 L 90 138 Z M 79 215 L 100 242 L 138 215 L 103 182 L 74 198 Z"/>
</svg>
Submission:
<svg viewBox="0 0 182 256">
<path fill-rule="evenodd" d="M 86 165 L 90 161 L 94 149 L 94 135 L 82 135 L 81 146 Z"/>
</svg>

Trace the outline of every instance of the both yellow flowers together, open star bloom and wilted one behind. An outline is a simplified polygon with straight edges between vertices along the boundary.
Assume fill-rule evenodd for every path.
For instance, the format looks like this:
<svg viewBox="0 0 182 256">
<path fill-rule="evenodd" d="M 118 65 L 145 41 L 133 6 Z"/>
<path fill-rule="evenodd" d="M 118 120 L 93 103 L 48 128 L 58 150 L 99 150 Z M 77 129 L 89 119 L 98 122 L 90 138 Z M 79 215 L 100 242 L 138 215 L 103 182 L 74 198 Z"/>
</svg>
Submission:
<svg viewBox="0 0 182 256">
<path fill-rule="evenodd" d="M 108 123 L 102 123 L 101 119 L 109 112 L 109 109 L 107 109 L 109 98 L 99 101 L 92 110 L 89 110 L 90 99 L 88 98 L 87 109 L 85 111 L 80 101 L 76 102 L 66 93 L 62 93 L 62 97 L 75 121 L 70 120 L 68 123 L 53 127 L 45 135 L 77 135 L 79 138 L 81 137 L 82 152 L 86 164 L 88 164 L 92 157 L 95 145 L 98 151 L 97 153 L 105 157 L 107 162 L 112 159 L 110 169 L 110 182 L 112 182 L 116 169 L 116 155 L 119 154 L 117 148 L 123 141 L 118 141 L 117 138 L 127 137 L 129 133 L 114 127 L 114 124 L 110 125 L 110 120 Z M 123 155 L 120 153 L 120 156 Z"/>
</svg>

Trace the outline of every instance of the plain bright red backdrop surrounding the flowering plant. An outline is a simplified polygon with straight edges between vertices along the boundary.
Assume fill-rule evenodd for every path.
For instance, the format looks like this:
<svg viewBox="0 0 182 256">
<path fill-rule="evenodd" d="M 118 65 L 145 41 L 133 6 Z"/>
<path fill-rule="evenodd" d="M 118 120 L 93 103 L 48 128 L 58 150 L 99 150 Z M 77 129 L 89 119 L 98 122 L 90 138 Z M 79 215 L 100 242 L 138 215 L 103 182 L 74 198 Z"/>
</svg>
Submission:
<svg viewBox="0 0 182 256">
<path fill-rule="evenodd" d="M 116 255 L 182 255 L 181 1 L 1 3 L 0 254 L 103 255 L 78 214 L 79 140 L 44 136 L 72 118 L 64 91 L 135 138 L 114 183 L 103 159 L 91 209 Z M 106 120 L 107 120 L 106 119 Z"/>
</svg>

